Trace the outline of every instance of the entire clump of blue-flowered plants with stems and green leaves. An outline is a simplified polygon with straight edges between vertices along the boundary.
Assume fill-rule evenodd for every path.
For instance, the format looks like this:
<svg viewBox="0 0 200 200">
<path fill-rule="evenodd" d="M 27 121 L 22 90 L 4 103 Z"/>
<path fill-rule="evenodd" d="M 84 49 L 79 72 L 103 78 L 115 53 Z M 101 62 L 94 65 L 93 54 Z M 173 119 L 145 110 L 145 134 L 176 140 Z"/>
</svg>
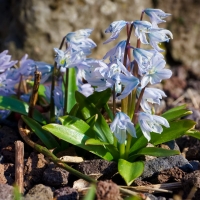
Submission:
<svg viewBox="0 0 200 200">
<path fill-rule="evenodd" d="M 143 21 L 145 14 L 151 22 Z M 166 94 L 154 85 L 172 75 L 165 68 L 164 50 L 159 44 L 173 36 L 158 27 L 169 15 L 160 9 L 145 9 L 140 20 L 112 22 L 105 30 L 111 36 L 104 44 L 116 40 L 123 28 L 127 38 L 100 60 L 88 58 L 96 47 L 89 38 L 92 29 L 68 33 L 60 48 L 54 48 L 54 66 L 27 59 L 27 55 L 16 66 L 17 61 L 10 61 L 7 51 L 2 52 L 1 117 L 10 111 L 22 114 L 24 122 L 48 149 L 54 149 L 54 154 L 70 143 L 116 161 L 120 175 L 130 185 L 143 173 L 141 156 L 176 155 L 179 151 L 159 145 L 184 134 L 199 138 L 195 122 L 181 119 L 191 114 L 185 105 L 161 116 L 155 113 L 155 104 L 159 105 Z M 133 35 L 136 46 L 130 44 Z M 141 43 L 148 49 L 141 48 Z M 49 77 L 51 84 L 47 84 Z M 118 108 L 116 100 L 121 101 Z"/>
</svg>

